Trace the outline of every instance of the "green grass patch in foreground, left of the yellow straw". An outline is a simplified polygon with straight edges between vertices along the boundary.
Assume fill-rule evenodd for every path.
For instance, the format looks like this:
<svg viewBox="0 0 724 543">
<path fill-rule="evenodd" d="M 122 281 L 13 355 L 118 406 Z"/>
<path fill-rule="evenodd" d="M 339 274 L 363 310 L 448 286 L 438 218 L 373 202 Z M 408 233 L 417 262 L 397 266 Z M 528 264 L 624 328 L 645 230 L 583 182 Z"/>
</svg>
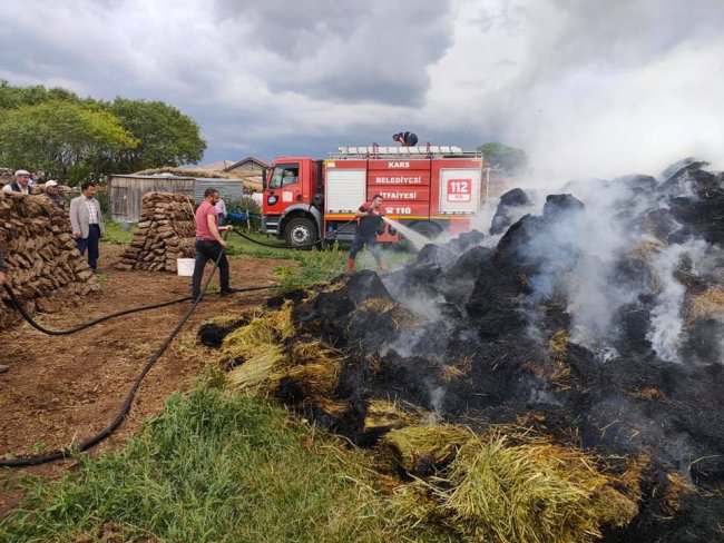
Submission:
<svg viewBox="0 0 724 543">
<path fill-rule="evenodd" d="M 442 541 L 395 524 L 362 452 L 219 381 L 169 398 L 125 451 L 27 482 L 0 541 Z"/>
</svg>

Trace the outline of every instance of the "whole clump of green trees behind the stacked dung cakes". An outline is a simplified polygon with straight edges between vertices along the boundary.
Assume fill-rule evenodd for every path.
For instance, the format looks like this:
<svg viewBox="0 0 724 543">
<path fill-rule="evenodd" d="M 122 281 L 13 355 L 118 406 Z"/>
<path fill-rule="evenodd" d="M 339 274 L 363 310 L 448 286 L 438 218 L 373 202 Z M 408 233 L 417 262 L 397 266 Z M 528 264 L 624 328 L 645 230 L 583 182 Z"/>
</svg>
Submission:
<svg viewBox="0 0 724 543">
<path fill-rule="evenodd" d="M 53 111 L 57 109 L 57 111 Z M 199 128 L 160 101 L 80 99 L 69 90 L 0 80 L 0 165 L 77 180 L 197 162 Z"/>
</svg>

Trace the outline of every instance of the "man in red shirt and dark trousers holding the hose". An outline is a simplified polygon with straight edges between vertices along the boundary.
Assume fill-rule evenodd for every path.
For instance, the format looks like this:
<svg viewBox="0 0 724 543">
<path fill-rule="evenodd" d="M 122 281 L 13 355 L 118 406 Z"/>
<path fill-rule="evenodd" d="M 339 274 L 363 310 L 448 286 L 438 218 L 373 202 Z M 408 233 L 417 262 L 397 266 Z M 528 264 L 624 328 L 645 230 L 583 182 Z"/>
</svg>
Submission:
<svg viewBox="0 0 724 543">
<path fill-rule="evenodd" d="M 229 230 L 233 227 L 217 226 L 216 203 L 218 198 L 216 189 L 207 188 L 204 191 L 204 201 L 196 209 L 196 257 L 194 258 L 194 277 L 192 278 L 192 303 L 195 303 L 202 295 L 202 278 L 207 260 L 216 261 L 218 258 L 219 294 L 228 296 L 238 292 L 238 289 L 228 286 L 228 260 L 224 253 L 226 240 L 222 238 L 219 230 Z"/>
</svg>

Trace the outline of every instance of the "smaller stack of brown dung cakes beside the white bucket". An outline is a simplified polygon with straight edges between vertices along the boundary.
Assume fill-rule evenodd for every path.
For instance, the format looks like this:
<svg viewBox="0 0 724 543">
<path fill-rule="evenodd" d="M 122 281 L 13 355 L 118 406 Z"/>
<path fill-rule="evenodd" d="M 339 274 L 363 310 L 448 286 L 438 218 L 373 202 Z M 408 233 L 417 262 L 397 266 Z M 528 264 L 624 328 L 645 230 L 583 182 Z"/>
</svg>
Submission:
<svg viewBox="0 0 724 543">
<path fill-rule="evenodd" d="M 116 268 L 176 272 L 177 258 L 194 256 L 194 200 L 185 195 L 144 195 L 134 239 Z"/>
</svg>

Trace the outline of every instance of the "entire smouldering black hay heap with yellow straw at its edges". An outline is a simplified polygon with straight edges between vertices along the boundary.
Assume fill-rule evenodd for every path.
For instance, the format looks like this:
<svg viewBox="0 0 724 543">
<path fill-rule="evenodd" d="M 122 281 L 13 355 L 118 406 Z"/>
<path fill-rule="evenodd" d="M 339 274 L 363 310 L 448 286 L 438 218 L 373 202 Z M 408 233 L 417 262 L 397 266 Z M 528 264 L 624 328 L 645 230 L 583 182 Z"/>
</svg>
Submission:
<svg viewBox="0 0 724 543">
<path fill-rule="evenodd" d="M 409 525 L 724 540 L 724 175 L 684 161 L 567 192 L 383 280 L 272 300 L 263 347 L 254 319 L 224 339 L 229 379 L 376 447 Z"/>
</svg>

